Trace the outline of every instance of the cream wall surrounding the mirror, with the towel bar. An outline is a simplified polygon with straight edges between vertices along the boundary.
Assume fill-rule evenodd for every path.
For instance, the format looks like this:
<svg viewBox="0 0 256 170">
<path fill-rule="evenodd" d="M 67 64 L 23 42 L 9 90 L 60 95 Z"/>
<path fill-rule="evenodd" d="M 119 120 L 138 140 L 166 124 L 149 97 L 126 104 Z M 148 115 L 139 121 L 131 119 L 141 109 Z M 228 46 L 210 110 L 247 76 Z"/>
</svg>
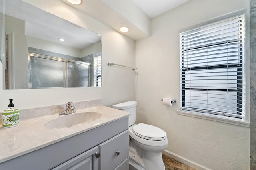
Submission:
<svg viewBox="0 0 256 170">
<path fill-rule="evenodd" d="M 7 107 L 8 99 L 11 98 L 18 99 L 15 101 L 15 106 L 19 109 L 100 98 L 103 99 L 103 105 L 112 106 L 115 103 L 135 99 L 135 72 L 132 69 L 107 65 L 108 62 L 115 62 L 134 66 L 133 40 L 62 1 L 29 0 L 28 2 L 102 35 L 102 87 L 1 90 L 0 111 Z M 2 69 L 0 74 L 2 75 Z"/>
</svg>

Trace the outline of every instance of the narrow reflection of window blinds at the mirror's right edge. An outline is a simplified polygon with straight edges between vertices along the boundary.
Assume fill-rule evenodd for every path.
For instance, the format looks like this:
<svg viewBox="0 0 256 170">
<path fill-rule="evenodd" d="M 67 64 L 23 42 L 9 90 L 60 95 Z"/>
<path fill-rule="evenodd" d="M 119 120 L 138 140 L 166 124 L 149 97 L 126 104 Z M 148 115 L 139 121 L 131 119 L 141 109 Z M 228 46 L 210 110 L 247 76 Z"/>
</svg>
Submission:
<svg viewBox="0 0 256 170">
<path fill-rule="evenodd" d="M 101 56 L 93 57 L 93 86 L 101 86 Z"/>
</svg>

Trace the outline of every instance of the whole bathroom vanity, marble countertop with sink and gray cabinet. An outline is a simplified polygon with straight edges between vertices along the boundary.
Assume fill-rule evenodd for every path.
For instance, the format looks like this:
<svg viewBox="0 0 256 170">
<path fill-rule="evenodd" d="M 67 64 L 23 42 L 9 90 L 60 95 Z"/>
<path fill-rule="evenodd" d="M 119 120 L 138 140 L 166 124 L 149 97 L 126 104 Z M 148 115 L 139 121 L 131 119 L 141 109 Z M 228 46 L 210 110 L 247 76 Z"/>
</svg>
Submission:
<svg viewBox="0 0 256 170">
<path fill-rule="evenodd" d="M 85 114 L 89 116 L 84 123 L 66 123 L 76 115 L 83 119 L 80 115 Z M 128 170 L 128 115 L 98 105 L 69 115 L 27 119 L 12 128 L 1 127 L 0 168 Z"/>
</svg>

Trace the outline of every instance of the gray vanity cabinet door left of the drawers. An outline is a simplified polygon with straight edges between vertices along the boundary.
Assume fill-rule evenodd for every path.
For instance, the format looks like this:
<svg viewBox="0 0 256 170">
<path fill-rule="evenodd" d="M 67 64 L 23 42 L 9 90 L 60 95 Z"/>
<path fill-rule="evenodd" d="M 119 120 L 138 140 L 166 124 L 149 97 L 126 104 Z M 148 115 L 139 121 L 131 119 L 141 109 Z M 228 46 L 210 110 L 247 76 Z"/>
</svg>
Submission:
<svg viewBox="0 0 256 170">
<path fill-rule="evenodd" d="M 95 153 L 98 152 L 98 146 L 60 164 L 52 170 L 98 170 L 99 161 Z"/>
</svg>

